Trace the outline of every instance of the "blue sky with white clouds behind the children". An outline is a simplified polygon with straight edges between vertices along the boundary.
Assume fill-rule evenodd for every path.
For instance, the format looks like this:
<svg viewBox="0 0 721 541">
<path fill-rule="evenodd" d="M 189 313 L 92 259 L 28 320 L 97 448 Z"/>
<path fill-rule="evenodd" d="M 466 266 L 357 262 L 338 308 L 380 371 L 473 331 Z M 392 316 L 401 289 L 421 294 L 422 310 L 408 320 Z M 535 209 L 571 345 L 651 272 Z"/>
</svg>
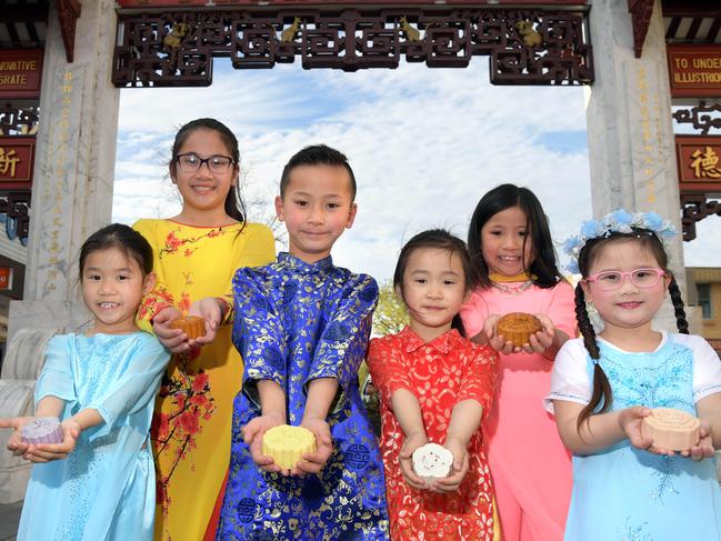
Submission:
<svg viewBox="0 0 721 541">
<path fill-rule="evenodd" d="M 591 217 L 581 88 L 493 87 L 483 58 L 464 70 L 356 73 L 299 63 L 241 71 L 216 59 L 213 79 L 209 88 L 121 91 L 114 220 L 178 212 L 166 164 L 178 127 L 199 117 L 237 133 L 251 221 L 272 218 L 278 178 L 296 151 L 324 142 L 346 152 L 359 213 L 333 258 L 379 280 L 419 231 L 444 227 L 465 238 L 480 197 L 503 182 L 537 193 L 559 243 Z M 687 266 L 721 266 L 711 242 L 719 220 L 698 224 Z"/>
</svg>

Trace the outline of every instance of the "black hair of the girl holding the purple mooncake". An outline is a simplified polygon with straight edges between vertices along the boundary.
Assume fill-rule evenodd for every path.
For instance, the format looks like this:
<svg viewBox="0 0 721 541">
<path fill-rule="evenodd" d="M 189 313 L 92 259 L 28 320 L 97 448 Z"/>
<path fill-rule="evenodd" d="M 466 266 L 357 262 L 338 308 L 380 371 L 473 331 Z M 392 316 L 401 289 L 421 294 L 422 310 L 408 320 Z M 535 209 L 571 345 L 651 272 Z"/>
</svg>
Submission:
<svg viewBox="0 0 721 541">
<path fill-rule="evenodd" d="M 82 271 L 88 256 L 110 248 L 117 248 L 128 258 L 136 260 L 143 277 L 152 272 L 152 248 L 146 238 L 124 223 L 111 223 L 92 233 L 80 247 L 80 280 L 82 280 Z"/>
</svg>

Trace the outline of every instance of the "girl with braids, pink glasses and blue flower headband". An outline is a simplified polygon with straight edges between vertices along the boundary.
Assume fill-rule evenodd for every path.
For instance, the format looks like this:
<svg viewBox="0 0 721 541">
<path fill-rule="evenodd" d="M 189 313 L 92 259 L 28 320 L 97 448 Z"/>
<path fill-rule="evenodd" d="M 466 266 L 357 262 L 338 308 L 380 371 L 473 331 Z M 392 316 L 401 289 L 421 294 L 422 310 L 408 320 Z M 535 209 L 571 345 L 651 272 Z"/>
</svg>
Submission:
<svg viewBox="0 0 721 541">
<path fill-rule="evenodd" d="M 615 211 L 569 239 L 582 280 L 575 311 L 582 337 L 559 351 L 547 408 L 573 452 L 569 541 L 721 539 L 721 361 L 690 335 L 653 213 Z M 679 333 L 651 328 L 669 294 Z M 587 302 L 603 322 L 598 337 Z M 653 408 L 701 421 L 689 449 L 654 447 L 641 431 Z"/>
</svg>

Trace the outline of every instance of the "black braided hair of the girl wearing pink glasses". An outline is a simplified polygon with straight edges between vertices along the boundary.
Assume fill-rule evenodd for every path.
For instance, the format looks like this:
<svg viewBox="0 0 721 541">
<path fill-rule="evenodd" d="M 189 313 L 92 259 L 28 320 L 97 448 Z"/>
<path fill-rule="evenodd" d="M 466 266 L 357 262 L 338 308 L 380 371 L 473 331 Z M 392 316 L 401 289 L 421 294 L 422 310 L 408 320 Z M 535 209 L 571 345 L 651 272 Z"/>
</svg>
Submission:
<svg viewBox="0 0 721 541">
<path fill-rule="evenodd" d="M 673 304 L 673 311 L 675 314 L 675 325 L 679 329 L 679 332 L 682 334 L 689 333 L 689 323 L 685 320 L 685 311 L 683 310 L 683 299 L 681 298 L 681 290 L 679 284 L 673 277 L 673 273 L 669 270 L 669 257 L 663 249 L 663 242 L 661 239 L 653 232 L 648 229 L 633 228 L 632 232 L 621 233 L 621 232 L 611 232 L 608 237 L 599 237 L 595 239 L 589 240 L 581 251 L 579 252 L 579 271 L 581 272 L 582 279 L 589 277 L 589 270 L 592 267 L 593 262 L 599 258 L 601 251 L 604 247 L 613 242 L 638 242 L 640 244 L 640 250 L 648 250 L 653 254 L 653 258 L 659 264 L 659 268 L 663 270 L 667 275 L 671 279 L 669 281 L 669 294 L 671 297 L 671 302 Z M 589 319 L 589 313 L 585 308 L 585 294 L 583 293 L 582 283 L 575 287 L 575 319 L 579 323 L 579 331 L 581 337 L 583 337 L 583 345 L 588 350 L 591 359 L 598 360 L 601 358 L 601 352 L 599 350 L 599 344 L 595 340 L 595 331 Z M 594 413 L 603 413 L 611 408 L 613 401 L 613 394 L 611 392 L 611 384 L 609 379 L 601 365 L 595 362 L 593 367 L 593 392 L 591 394 L 591 401 L 588 403 L 578 419 L 578 427 L 581 427 L 581 423 L 591 417 Z"/>
</svg>

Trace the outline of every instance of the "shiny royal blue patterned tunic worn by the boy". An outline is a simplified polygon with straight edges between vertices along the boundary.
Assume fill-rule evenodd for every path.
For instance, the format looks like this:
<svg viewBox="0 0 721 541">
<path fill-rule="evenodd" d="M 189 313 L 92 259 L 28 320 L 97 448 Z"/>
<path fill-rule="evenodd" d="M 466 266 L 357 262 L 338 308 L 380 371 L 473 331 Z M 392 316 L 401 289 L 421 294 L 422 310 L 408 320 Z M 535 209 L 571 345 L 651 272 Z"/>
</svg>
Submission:
<svg viewBox="0 0 721 541">
<path fill-rule="evenodd" d="M 358 389 L 378 299 L 375 281 L 288 253 L 233 279 L 233 343 L 244 362 L 234 401 L 230 473 L 218 540 L 388 539 L 385 485 L 378 443 Z M 286 391 L 289 424 L 300 424 L 308 383 L 334 378 L 328 422 L 333 453 L 318 475 L 267 473 L 252 461 L 241 428 L 260 414 L 256 384 Z"/>
</svg>

